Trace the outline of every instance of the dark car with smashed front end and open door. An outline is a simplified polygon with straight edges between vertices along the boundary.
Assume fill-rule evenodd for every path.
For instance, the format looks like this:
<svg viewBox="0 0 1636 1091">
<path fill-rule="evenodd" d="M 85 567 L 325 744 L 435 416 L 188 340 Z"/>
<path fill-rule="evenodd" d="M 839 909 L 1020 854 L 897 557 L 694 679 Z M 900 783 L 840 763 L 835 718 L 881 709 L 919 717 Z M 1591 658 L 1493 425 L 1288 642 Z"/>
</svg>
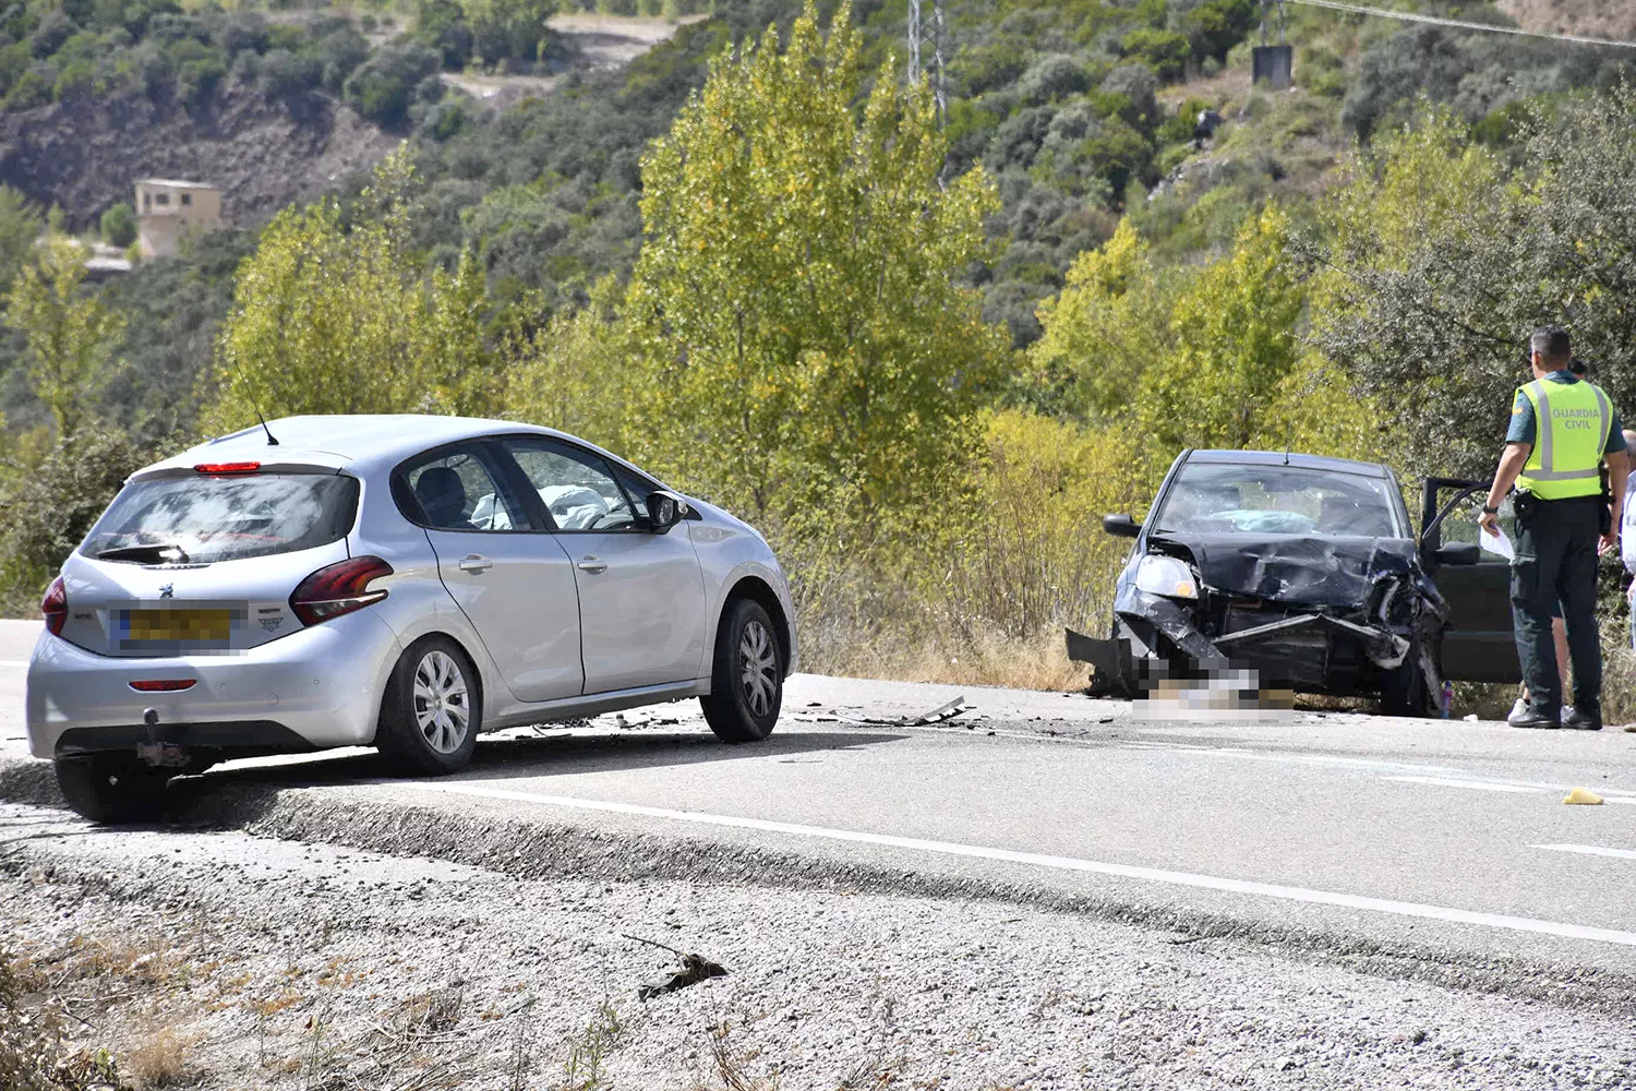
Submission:
<svg viewBox="0 0 1636 1091">
<path fill-rule="evenodd" d="M 1070 631 L 1068 654 L 1108 695 L 1248 669 L 1261 689 L 1378 695 L 1391 713 L 1438 715 L 1446 680 L 1520 676 L 1508 566 L 1477 546 L 1484 489 L 1428 481 L 1417 535 L 1386 466 L 1183 451 L 1145 523 L 1103 520 L 1135 548 L 1112 633 Z"/>
</svg>

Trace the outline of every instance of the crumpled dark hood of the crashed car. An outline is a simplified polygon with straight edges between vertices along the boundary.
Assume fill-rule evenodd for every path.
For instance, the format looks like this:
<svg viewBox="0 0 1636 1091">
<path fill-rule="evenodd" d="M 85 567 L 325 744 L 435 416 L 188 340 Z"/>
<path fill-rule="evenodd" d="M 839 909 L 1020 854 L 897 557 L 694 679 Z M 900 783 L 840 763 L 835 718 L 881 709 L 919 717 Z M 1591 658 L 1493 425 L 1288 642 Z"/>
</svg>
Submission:
<svg viewBox="0 0 1636 1091">
<path fill-rule="evenodd" d="M 1409 538 L 1153 533 L 1148 546 L 1184 548 L 1207 587 L 1288 605 L 1360 607 L 1381 581 L 1404 576 L 1428 587 Z"/>
</svg>

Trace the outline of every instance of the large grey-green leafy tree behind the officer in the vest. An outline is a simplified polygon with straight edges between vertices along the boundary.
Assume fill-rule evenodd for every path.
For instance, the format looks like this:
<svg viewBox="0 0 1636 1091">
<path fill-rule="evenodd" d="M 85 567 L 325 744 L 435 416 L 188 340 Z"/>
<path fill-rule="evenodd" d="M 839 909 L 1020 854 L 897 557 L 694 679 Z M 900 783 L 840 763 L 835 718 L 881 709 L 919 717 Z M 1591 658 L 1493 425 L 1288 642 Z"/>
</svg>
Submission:
<svg viewBox="0 0 1636 1091">
<path fill-rule="evenodd" d="M 1314 334 L 1379 396 L 1422 466 L 1492 471 L 1525 343 L 1543 322 L 1626 414 L 1636 406 L 1636 90 L 1536 116 L 1508 175 L 1449 114 L 1432 113 L 1332 204 L 1333 240 L 1309 242 L 1325 275 Z"/>
</svg>

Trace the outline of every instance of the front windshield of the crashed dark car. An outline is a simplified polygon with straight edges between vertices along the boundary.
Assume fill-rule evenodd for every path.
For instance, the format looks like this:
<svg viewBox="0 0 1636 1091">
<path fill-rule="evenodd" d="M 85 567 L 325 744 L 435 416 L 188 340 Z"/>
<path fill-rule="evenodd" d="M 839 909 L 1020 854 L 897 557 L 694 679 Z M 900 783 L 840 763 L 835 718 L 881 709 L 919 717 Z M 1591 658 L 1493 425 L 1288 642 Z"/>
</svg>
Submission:
<svg viewBox="0 0 1636 1091">
<path fill-rule="evenodd" d="M 1165 533 L 1404 537 L 1386 478 L 1238 463 L 1184 465 L 1152 525 Z"/>
</svg>

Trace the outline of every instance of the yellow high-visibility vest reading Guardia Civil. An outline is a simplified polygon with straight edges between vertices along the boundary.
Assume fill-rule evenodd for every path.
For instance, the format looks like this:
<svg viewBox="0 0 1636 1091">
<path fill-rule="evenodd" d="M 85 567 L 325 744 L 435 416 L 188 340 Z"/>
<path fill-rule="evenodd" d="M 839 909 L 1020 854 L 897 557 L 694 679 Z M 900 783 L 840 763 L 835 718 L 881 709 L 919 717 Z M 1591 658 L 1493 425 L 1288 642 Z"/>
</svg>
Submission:
<svg viewBox="0 0 1636 1091">
<path fill-rule="evenodd" d="M 1517 388 L 1535 411 L 1535 447 L 1517 487 L 1541 501 L 1602 492 L 1602 451 L 1613 427 L 1613 402 L 1595 383 L 1546 383 Z"/>
</svg>

